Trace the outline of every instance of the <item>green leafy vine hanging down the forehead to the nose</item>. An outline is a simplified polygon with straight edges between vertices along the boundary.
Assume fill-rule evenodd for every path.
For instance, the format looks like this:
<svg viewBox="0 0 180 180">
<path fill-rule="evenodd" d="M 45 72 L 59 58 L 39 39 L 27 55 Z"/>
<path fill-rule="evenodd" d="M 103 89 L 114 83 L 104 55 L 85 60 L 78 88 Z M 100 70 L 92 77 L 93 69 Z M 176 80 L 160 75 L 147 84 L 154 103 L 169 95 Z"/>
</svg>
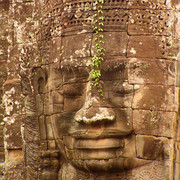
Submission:
<svg viewBox="0 0 180 180">
<path fill-rule="evenodd" d="M 104 101 L 104 94 L 102 90 L 102 83 L 100 82 L 100 77 L 101 77 L 101 70 L 100 66 L 102 61 L 104 61 L 104 52 L 105 49 L 103 47 L 104 41 L 103 41 L 103 27 L 104 27 L 104 16 L 103 16 L 103 4 L 104 0 L 97 0 L 94 3 L 94 6 L 96 8 L 96 13 L 93 15 L 94 17 L 94 32 L 95 32 L 95 53 L 94 56 L 91 59 L 91 66 L 92 69 L 90 71 L 90 75 L 93 79 L 91 84 L 95 87 L 97 87 L 98 92 L 100 95 L 103 97 Z"/>
</svg>

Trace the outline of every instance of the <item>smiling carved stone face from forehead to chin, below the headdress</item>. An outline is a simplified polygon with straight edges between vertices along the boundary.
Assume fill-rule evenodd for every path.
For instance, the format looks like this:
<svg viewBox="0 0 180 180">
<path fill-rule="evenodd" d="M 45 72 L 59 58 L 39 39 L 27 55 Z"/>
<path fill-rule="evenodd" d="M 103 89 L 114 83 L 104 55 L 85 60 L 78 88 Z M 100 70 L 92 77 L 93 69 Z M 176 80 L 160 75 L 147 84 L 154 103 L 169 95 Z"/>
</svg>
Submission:
<svg viewBox="0 0 180 180">
<path fill-rule="evenodd" d="M 105 102 L 89 79 L 93 34 L 53 42 L 53 49 L 60 49 L 57 44 L 61 44 L 64 53 L 54 55 L 60 67 L 50 73 L 50 117 L 59 150 L 74 167 L 122 171 L 171 158 L 175 62 L 156 59 L 161 57 L 160 39 L 153 38 L 104 32 L 101 81 Z"/>
</svg>

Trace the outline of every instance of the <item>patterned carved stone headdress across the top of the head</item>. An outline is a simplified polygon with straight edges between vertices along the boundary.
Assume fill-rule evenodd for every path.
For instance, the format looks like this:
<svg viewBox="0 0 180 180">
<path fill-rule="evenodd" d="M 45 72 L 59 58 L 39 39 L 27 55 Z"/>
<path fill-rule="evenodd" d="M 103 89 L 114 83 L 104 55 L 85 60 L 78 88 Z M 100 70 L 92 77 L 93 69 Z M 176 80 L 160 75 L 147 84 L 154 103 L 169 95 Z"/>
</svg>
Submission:
<svg viewBox="0 0 180 180">
<path fill-rule="evenodd" d="M 61 36 L 62 33 L 77 33 L 77 31 L 82 30 L 92 31 L 95 11 L 94 2 L 94 0 L 67 0 L 63 2 L 62 0 L 47 0 L 43 8 L 44 17 L 42 24 L 48 27 L 51 37 Z M 161 27 L 167 28 L 167 24 L 161 25 L 159 23 L 163 13 L 162 10 L 167 10 L 167 6 L 162 1 L 105 0 L 103 9 L 105 31 L 126 31 L 128 24 L 143 25 L 147 26 L 146 28 L 151 25 L 153 26 L 150 28 L 151 31 L 155 30 L 155 25 L 153 24 L 159 24 L 159 29 L 162 29 Z M 136 12 L 130 12 L 129 10 L 135 10 Z M 137 10 L 146 10 L 146 16 L 149 16 L 145 17 L 145 15 L 142 15 L 141 17 L 142 12 L 137 12 Z M 129 21 L 132 14 L 135 16 L 135 19 L 133 18 L 132 21 Z M 137 24 L 138 22 L 140 24 Z"/>
</svg>

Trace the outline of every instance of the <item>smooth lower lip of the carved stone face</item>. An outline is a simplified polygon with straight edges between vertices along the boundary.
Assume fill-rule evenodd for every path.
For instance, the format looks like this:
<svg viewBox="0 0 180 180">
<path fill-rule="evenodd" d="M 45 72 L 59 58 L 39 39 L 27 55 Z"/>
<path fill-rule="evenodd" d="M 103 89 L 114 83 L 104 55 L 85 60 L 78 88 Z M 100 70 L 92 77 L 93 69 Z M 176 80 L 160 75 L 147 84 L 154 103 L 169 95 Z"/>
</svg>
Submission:
<svg viewBox="0 0 180 180">
<path fill-rule="evenodd" d="M 111 149 L 124 147 L 124 140 L 120 138 L 77 139 L 76 149 Z"/>
</svg>

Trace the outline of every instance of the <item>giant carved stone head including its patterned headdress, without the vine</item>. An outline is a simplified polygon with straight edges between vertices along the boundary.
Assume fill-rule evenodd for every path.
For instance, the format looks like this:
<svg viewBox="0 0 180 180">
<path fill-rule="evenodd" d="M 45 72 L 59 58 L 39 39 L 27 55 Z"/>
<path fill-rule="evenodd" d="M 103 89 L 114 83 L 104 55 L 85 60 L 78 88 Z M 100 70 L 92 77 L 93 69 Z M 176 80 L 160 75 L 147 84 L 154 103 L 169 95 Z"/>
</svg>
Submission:
<svg viewBox="0 0 180 180">
<path fill-rule="evenodd" d="M 161 0 L 105 2 L 103 102 L 89 76 L 92 9 L 91 1 L 65 1 L 42 22 L 48 43 L 41 54 L 52 48 L 47 137 L 55 137 L 62 164 L 93 173 L 146 166 L 128 178 L 144 179 L 151 168 L 145 179 L 171 179 L 178 107 L 172 11 Z"/>
</svg>

